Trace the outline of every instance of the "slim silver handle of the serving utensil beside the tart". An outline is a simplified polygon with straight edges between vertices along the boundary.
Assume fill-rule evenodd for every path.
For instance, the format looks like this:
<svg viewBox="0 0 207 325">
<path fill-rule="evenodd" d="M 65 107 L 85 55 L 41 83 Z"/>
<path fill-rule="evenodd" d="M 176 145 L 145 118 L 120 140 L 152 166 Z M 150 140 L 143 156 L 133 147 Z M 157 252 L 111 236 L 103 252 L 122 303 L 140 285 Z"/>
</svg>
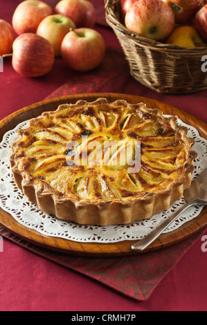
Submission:
<svg viewBox="0 0 207 325">
<path fill-rule="evenodd" d="M 138 250 L 138 251 L 145 250 L 145 248 L 147 248 L 151 243 L 153 243 L 153 241 L 155 241 L 155 239 L 157 239 L 163 233 L 163 231 L 166 228 L 168 228 L 168 226 L 171 225 L 171 223 L 179 217 L 179 215 L 183 211 L 185 211 L 188 207 L 190 207 L 190 205 L 192 205 L 192 203 L 185 203 L 180 210 L 172 214 L 172 216 L 170 216 L 169 219 L 167 219 L 161 225 L 159 225 L 159 227 L 156 228 L 153 232 L 151 232 L 151 234 L 147 235 L 145 238 L 141 239 L 140 241 L 134 243 L 134 245 L 132 245 L 132 250 Z"/>
</svg>

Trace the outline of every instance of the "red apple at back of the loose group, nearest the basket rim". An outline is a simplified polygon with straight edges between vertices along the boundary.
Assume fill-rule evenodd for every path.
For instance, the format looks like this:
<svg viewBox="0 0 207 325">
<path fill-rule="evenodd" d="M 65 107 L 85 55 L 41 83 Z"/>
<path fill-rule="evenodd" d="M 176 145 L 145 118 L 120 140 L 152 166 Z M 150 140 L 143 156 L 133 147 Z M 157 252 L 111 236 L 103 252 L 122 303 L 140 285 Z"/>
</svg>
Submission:
<svg viewBox="0 0 207 325">
<path fill-rule="evenodd" d="M 55 13 L 72 19 L 77 28 L 93 28 L 96 23 L 96 10 L 87 0 L 62 0 L 55 6 Z"/>
</svg>

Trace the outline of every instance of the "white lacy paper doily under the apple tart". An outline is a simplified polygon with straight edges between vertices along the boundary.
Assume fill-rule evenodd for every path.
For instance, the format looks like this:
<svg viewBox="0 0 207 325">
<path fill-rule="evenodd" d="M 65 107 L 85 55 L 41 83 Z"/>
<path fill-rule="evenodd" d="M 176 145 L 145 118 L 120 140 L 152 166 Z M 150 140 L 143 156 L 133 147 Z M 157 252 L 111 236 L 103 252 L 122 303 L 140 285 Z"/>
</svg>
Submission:
<svg viewBox="0 0 207 325">
<path fill-rule="evenodd" d="M 27 127 L 28 121 L 21 122 L 15 129 L 8 131 L 0 144 L 0 207 L 10 213 L 13 218 L 27 228 L 36 230 L 47 236 L 60 237 L 78 242 L 116 243 L 125 240 L 138 240 L 152 232 L 158 225 L 168 219 L 181 205 L 183 198 L 175 202 L 167 211 L 152 216 L 150 219 L 129 223 L 128 225 L 78 225 L 69 221 L 62 221 L 55 216 L 39 210 L 37 205 L 27 201 L 26 196 L 17 188 L 12 177 L 9 157 L 10 143 L 17 140 L 17 130 Z M 195 139 L 193 149 L 197 151 L 195 159 L 195 178 L 207 167 L 207 140 L 201 138 L 197 129 L 178 120 L 179 125 L 188 128 L 188 136 Z M 194 219 L 201 212 L 202 207 L 189 207 L 180 218 L 165 230 L 165 233 L 177 230 L 183 223 Z"/>
</svg>

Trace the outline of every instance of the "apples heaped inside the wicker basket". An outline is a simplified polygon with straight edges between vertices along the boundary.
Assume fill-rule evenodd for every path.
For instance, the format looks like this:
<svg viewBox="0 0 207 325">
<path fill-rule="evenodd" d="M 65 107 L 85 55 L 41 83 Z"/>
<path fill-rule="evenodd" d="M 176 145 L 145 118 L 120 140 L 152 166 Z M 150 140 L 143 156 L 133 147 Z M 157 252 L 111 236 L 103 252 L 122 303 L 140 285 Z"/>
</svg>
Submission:
<svg viewBox="0 0 207 325">
<path fill-rule="evenodd" d="M 207 0 L 120 0 L 127 29 L 186 48 L 206 46 Z"/>
</svg>

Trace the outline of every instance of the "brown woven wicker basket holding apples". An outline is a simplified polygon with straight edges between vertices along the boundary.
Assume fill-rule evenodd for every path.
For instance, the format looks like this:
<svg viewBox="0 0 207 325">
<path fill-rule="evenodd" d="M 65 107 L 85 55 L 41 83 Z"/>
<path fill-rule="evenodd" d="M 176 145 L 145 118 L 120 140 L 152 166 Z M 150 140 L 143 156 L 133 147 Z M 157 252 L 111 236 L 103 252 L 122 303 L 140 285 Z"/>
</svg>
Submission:
<svg viewBox="0 0 207 325">
<path fill-rule="evenodd" d="M 105 0 L 105 15 L 123 48 L 130 73 L 138 82 L 159 93 L 207 89 L 207 73 L 201 71 L 207 47 L 181 48 L 140 37 L 120 23 L 120 0 Z"/>
</svg>

